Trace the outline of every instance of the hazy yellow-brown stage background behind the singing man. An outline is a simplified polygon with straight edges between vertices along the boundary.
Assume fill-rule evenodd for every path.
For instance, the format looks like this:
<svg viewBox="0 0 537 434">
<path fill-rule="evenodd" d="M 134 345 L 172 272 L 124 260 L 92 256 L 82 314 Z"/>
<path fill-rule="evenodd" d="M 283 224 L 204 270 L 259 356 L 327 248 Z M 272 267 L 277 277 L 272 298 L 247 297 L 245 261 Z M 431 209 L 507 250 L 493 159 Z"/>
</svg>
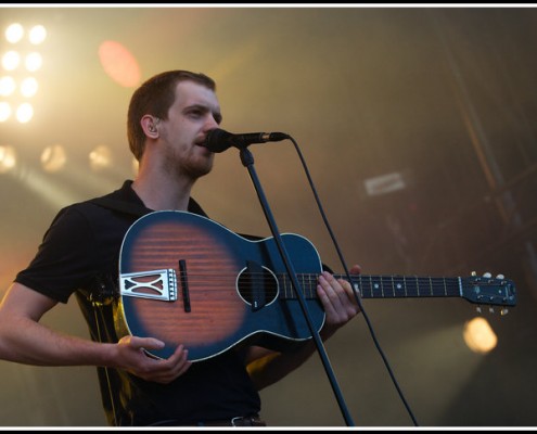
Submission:
<svg viewBox="0 0 537 434">
<path fill-rule="evenodd" d="M 537 422 L 537 11 L 533 8 L 3 8 L 0 24 L 48 29 L 36 115 L 0 124 L 18 167 L 0 174 L 0 288 L 34 256 L 61 206 L 132 178 L 125 124 L 132 88 L 98 56 L 116 40 L 142 79 L 175 68 L 216 79 L 234 132 L 284 131 L 299 144 L 345 260 L 366 275 L 502 273 L 519 303 L 500 316 L 461 298 L 366 299 L 395 378 L 422 426 Z M 5 43 L 5 42 L 3 42 Z M 4 47 L 2 47 L 2 50 Z M 67 169 L 39 155 L 62 144 Z M 88 153 L 114 152 L 91 171 Z M 194 195 L 216 220 L 270 235 L 236 150 L 219 154 Z M 282 232 L 307 237 L 341 271 L 290 142 L 253 145 Z M 368 195 L 365 181 L 400 174 L 404 188 Z M 484 316 L 487 355 L 462 340 Z M 87 336 L 74 299 L 43 321 Z M 363 316 L 327 343 L 357 426 L 411 426 Z M 0 362 L 0 423 L 105 423 L 91 367 Z M 319 357 L 261 393 L 272 426 L 343 426 Z"/>
</svg>

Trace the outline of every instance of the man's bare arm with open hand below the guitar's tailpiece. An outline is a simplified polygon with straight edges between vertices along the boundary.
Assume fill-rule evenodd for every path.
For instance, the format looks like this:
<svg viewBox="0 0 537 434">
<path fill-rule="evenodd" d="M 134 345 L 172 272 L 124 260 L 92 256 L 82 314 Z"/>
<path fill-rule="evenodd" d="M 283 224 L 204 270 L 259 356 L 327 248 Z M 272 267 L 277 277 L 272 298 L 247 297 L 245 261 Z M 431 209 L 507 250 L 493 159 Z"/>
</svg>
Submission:
<svg viewBox="0 0 537 434">
<path fill-rule="evenodd" d="M 190 367 L 182 346 L 166 360 L 148 357 L 143 348 L 164 345 L 152 337 L 126 336 L 106 344 L 53 331 L 39 321 L 56 303 L 13 283 L 0 304 L 0 358 L 37 366 L 113 367 L 161 383 L 175 380 Z"/>
</svg>

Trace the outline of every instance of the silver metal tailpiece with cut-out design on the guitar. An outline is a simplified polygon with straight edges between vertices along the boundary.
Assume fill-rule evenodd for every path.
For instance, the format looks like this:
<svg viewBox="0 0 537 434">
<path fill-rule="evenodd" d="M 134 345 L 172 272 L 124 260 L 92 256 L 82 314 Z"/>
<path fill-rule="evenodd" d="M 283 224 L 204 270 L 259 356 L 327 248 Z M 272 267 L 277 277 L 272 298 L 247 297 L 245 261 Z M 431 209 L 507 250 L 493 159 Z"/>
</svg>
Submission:
<svg viewBox="0 0 537 434">
<path fill-rule="evenodd" d="M 163 302 L 177 299 L 177 277 L 174 269 L 126 272 L 119 275 L 119 291 L 129 297 Z"/>
</svg>

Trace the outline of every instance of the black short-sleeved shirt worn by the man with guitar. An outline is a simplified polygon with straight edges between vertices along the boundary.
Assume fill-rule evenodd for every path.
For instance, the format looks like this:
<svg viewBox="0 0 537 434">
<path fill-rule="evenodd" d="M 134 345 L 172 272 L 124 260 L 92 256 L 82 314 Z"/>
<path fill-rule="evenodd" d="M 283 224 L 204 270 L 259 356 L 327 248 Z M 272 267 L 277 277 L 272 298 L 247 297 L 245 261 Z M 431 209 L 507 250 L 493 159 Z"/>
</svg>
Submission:
<svg viewBox="0 0 537 434">
<path fill-rule="evenodd" d="M 91 339 L 115 343 L 117 297 L 113 295 L 120 245 L 129 227 L 151 209 L 145 208 L 131 189 L 131 181 L 125 181 L 119 190 L 103 197 L 123 204 L 123 210 L 112 209 L 99 200 L 63 208 L 44 234 L 36 257 L 15 281 L 61 303 L 67 303 L 74 293 Z M 193 200 L 189 210 L 204 215 Z M 260 410 L 259 395 L 246 372 L 244 355 L 235 349 L 193 363 L 186 374 L 167 385 L 111 368 L 98 368 L 98 375 L 111 425 L 166 421 L 193 424 Z"/>
</svg>

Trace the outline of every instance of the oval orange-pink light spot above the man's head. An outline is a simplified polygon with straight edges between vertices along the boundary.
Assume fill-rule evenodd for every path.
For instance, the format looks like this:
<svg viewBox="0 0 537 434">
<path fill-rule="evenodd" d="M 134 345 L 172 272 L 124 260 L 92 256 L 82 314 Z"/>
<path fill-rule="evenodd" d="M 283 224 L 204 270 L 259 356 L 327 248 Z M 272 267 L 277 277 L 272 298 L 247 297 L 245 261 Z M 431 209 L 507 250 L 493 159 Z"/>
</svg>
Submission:
<svg viewBox="0 0 537 434">
<path fill-rule="evenodd" d="M 140 82 L 140 67 L 137 60 L 123 44 L 104 41 L 99 47 L 99 60 L 104 72 L 117 84 L 136 87 Z"/>
</svg>

